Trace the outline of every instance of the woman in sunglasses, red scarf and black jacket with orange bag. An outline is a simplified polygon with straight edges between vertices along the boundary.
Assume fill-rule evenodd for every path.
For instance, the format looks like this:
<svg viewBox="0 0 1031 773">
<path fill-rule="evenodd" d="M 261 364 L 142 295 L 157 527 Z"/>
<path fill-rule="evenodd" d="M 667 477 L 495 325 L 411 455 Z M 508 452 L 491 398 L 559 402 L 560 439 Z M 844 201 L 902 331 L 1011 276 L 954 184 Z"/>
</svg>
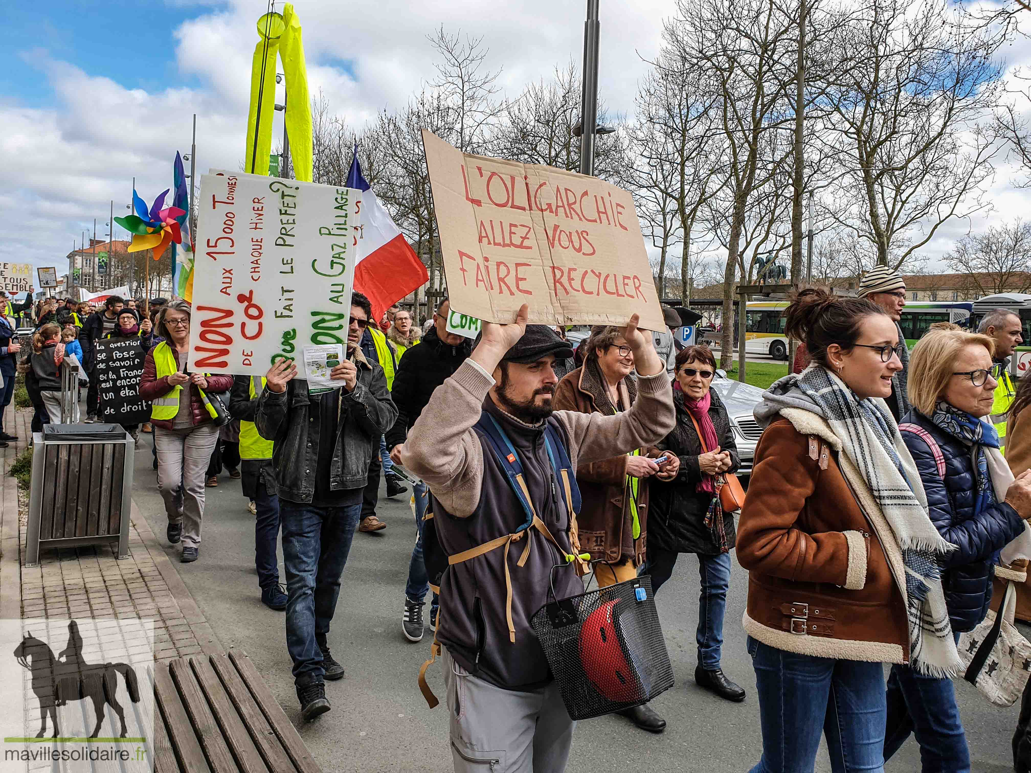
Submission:
<svg viewBox="0 0 1031 773">
<path fill-rule="evenodd" d="M 681 552 L 698 557 L 701 596 L 698 603 L 698 666 L 695 681 L 721 698 L 739 702 L 744 691 L 728 679 L 721 666 L 723 618 L 730 589 L 730 550 L 734 515 L 720 507 L 718 478 L 733 475 L 740 463 L 730 416 L 711 389 L 716 358 L 708 346 L 686 346 L 676 352 L 673 405 L 676 427 L 659 443 L 675 453 L 674 478 L 653 483 L 648 518 L 647 564 L 652 590 L 670 578 Z"/>
</svg>

